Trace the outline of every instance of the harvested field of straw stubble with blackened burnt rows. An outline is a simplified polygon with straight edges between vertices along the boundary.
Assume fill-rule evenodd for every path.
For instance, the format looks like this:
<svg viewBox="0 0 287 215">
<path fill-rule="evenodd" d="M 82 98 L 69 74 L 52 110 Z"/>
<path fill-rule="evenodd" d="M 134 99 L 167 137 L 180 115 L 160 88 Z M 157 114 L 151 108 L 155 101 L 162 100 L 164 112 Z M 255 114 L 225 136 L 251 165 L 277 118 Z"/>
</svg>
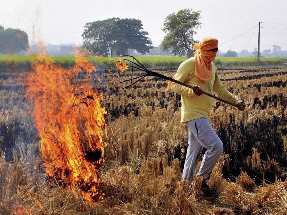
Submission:
<svg viewBox="0 0 287 215">
<path fill-rule="evenodd" d="M 155 68 L 172 77 L 176 68 Z M 247 104 L 244 112 L 214 101 L 211 124 L 224 144 L 209 185 L 218 198 L 181 181 L 187 128 L 180 95 L 148 78 L 129 89 L 129 71 L 102 73 L 106 106 L 105 199 L 88 204 L 80 187 L 47 183 L 36 129 L 19 73 L 0 77 L 0 214 L 287 214 L 287 68 L 219 69 L 225 87 Z M 136 72 L 136 75 L 138 73 Z M 4 155 L 5 151 L 5 155 Z"/>
</svg>

